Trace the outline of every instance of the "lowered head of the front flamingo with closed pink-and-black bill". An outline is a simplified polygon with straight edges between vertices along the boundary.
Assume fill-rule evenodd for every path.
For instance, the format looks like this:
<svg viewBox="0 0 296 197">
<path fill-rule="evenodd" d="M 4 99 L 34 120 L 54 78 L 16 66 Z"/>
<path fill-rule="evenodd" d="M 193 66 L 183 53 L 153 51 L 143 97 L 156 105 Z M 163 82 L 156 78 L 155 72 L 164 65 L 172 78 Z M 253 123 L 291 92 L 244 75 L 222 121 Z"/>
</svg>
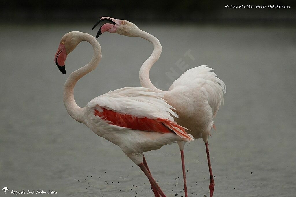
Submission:
<svg viewBox="0 0 296 197">
<path fill-rule="evenodd" d="M 69 32 L 63 36 L 59 43 L 59 48 L 57 53 L 54 56 L 54 62 L 57 64 L 57 67 L 62 72 L 66 74 L 65 70 L 65 61 L 67 55 L 74 50 L 74 48 L 81 42 L 81 32 Z"/>
</svg>

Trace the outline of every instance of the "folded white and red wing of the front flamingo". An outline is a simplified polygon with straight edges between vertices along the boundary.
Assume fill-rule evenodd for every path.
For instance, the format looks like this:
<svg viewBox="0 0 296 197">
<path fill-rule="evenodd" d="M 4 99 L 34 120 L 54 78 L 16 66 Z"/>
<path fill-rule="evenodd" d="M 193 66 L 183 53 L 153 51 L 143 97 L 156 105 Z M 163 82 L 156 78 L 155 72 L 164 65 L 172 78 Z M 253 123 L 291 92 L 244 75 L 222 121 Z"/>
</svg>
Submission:
<svg viewBox="0 0 296 197">
<path fill-rule="evenodd" d="M 126 87 L 94 98 L 88 103 L 89 113 L 108 124 L 141 131 L 174 132 L 181 138 L 192 138 L 178 125 L 178 115 L 160 93 L 142 87 Z"/>
</svg>

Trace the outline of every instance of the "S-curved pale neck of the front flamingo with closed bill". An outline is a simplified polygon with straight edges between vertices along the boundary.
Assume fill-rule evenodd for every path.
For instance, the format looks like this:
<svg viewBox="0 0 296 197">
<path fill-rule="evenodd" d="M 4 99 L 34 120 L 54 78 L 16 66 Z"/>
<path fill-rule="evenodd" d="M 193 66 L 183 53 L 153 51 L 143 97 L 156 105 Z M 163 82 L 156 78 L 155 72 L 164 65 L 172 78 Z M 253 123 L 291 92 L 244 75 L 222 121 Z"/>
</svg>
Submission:
<svg viewBox="0 0 296 197">
<path fill-rule="evenodd" d="M 101 46 L 91 35 L 83 33 L 81 41 L 89 42 L 94 48 L 94 56 L 88 64 L 70 74 L 64 85 L 63 101 L 69 115 L 78 122 L 83 121 L 83 108 L 79 107 L 74 99 L 74 87 L 81 77 L 94 70 L 102 58 Z"/>
</svg>

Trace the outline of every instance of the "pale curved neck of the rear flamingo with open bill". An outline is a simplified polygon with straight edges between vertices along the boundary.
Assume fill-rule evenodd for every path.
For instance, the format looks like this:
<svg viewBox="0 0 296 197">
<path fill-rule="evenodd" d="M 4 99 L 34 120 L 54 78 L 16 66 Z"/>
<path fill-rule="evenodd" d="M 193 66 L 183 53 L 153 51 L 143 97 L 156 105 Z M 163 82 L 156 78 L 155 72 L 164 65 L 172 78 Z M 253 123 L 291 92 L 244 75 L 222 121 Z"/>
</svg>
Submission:
<svg viewBox="0 0 296 197">
<path fill-rule="evenodd" d="M 153 47 L 154 47 L 152 54 L 146 61 L 144 61 L 139 71 L 141 85 L 142 87 L 154 89 L 157 92 L 163 92 L 163 90 L 160 90 L 157 87 L 155 87 L 149 78 L 149 71 L 153 66 L 153 64 L 159 59 L 163 48 L 161 47 L 159 40 L 147 32 L 139 30 L 139 34 L 137 34 L 137 37 L 148 40 L 153 44 Z"/>
</svg>

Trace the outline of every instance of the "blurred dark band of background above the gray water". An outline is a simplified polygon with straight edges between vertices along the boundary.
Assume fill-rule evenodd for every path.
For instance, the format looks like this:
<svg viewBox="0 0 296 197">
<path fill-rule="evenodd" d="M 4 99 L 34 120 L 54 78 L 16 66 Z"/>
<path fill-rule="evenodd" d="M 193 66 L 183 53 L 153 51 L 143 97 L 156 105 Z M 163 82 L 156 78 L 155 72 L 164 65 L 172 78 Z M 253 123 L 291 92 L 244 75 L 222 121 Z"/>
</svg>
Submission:
<svg viewBox="0 0 296 197">
<path fill-rule="evenodd" d="M 244 2 L 244 3 L 243 3 Z M 280 5 L 291 8 L 225 9 L 226 5 Z M 292 0 L 245 1 L 96 1 L 96 0 L 2 0 L 0 21 L 4 23 L 90 22 L 101 16 L 145 23 L 199 22 L 238 24 L 295 24 L 296 2 Z"/>
</svg>

